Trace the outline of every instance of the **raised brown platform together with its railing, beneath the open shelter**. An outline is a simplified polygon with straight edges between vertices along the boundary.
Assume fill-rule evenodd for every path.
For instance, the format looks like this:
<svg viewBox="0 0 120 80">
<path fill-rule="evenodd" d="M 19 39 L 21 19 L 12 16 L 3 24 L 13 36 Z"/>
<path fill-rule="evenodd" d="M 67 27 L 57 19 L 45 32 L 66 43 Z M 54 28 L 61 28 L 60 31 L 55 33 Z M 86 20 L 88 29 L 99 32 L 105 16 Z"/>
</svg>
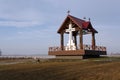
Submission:
<svg viewBox="0 0 120 80">
<path fill-rule="evenodd" d="M 83 49 L 77 48 L 77 50 L 62 50 L 60 47 L 49 47 L 49 55 L 55 55 L 57 58 L 75 58 L 83 59 L 89 57 L 99 57 L 100 55 L 106 55 L 106 47 L 96 46 L 95 50 L 90 45 L 84 45 Z"/>
</svg>

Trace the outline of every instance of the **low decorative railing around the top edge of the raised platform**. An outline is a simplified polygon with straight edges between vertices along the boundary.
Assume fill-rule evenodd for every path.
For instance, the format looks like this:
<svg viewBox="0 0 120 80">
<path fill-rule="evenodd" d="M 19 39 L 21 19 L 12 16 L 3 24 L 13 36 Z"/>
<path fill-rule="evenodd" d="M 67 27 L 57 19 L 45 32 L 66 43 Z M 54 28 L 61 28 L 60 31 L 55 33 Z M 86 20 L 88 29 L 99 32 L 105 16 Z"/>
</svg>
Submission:
<svg viewBox="0 0 120 80">
<path fill-rule="evenodd" d="M 63 50 L 65 50 L 65 46 Z M 77 46 L 77 50 L 80 50 L 80 47 Z M 83 50 L 93 50 L 91 45 L 83 45 Z M 104 46 L 95 46 L 96 51 L 106 51 L 106 47 Z M 49 51 L 62 51 L 60 47 L 49 47 Z"/>
</svg>

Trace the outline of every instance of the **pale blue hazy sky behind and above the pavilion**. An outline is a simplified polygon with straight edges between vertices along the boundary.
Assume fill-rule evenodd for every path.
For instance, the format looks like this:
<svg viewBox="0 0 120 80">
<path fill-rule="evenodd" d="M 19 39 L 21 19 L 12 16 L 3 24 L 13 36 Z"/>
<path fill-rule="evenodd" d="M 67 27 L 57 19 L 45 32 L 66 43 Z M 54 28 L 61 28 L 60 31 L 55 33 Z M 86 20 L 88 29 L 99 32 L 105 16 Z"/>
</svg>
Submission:
<svg viewBox="0 0 120 80">
<path fill-rule="evenodd" d="M 0 0 L 0 49 L 3 55 L 47 55 L 59 46 L 57 30 L 67 16 L 91 18 L 96 44 L 120 52 L 120 0 Z M 68 35 L 66 35 L 66 39 Z M 65 44 L 67 40 L 65 40 Z M 91 44 L 91 36 L 84 36 Z"/>
</svg>

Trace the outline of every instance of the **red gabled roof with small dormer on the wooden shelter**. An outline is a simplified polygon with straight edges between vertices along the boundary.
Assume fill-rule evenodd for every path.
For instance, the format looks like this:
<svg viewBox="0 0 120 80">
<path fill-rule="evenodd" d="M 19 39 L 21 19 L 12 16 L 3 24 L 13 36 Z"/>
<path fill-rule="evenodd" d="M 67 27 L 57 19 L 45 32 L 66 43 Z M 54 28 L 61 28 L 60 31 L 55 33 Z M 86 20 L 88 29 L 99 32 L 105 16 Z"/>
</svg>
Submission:
<svg viewBox="0 0 120 80">
<path fill-rule="evenodd" d="M 64 22 L 63 22 L 63 24 L 62 24 L 61 27 L 59 28 L 58 33 L 60 33 L 62 29 L 64 29 L 65 24 L 66 24 L 66 22 L 67 22 L 69 19 L 70 19 L 73 23 L 75 23 L 79 28 L 82 28 L 82 29 L 88 29 L 88 28 L 90 28 L 92 32 L 98 33 L 98 32 L 92 27 L 90 21 L 85 21 L 85 20 L 76 18 L 76 17 L 71 16 L 71 15 L 68 15 L 68 16 L 66 17 L 66 19 L 65 19 Z"/>
</svg>

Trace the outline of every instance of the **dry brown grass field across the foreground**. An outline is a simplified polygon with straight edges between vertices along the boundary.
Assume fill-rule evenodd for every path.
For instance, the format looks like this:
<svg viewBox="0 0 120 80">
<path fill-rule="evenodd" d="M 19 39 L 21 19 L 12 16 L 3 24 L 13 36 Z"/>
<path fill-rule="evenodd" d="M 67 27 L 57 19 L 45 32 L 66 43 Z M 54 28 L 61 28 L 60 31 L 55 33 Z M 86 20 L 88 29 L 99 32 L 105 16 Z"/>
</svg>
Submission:
<svg viewBox="0 0 120 80">
<path fill-rule="evenodd" d="M 120 80 L 120 60 L 28 60 L 3 64 L 0 80 Z"/>
</svg>

